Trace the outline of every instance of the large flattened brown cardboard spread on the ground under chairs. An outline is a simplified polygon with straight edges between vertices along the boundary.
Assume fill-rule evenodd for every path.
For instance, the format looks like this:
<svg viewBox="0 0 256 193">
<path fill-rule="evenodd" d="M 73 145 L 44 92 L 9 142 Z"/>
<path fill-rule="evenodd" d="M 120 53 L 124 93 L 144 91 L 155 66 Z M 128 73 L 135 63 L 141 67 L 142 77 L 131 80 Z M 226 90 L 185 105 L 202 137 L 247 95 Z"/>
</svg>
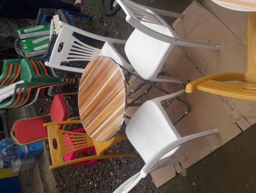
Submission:
<svg viewBox="0 0 256 193">
<path fill-rule="evenodd" d="M 205 0 L 203 3 L 210 2 Z M 216 6 L 214 11 L 216 14 L 220 12 L 220 18 L 223 18 L 224 14 L 221 12 L 226 10 Z M 179 38 L 215 44 L 220 48 L 211 50 L 175 46 L 162 70 L 165 71 L 164 76 L 179 78 L 183 80 L 183 83 L 159 82 L 158 86 L 173 93 L 185 89 L 187 83 L 207 75 L 223 72 L 246 73 L 246 28 L 245 25 L 240 25 L 241 22 L 246 22 L 242 19 L 245 17 L 244 13 L 236 13 L 237 18 L 241 17 L 239 23 L 232 18 L 224 18 L 226 22 L 224 24 L 197 1 L 193 1 L 183 14 L 185 15 L 182 19 L 178 18 L 173 23 L 174 32 Z M 230 29 L 234 29 L 235 32 L 233 33 Z M 132 87 L 141 82 L 136 77 L 132 77 L 129 84 Z M 146 85 L 143 89 L 145 90 L 147 87 Z M 143 89 L 137 91 L 136 95 L 140 95 L 144 91 Z M 163 95 L 165 94 L 161 91 L 152 88 L 142 97 L 142 101 L 145 102 Z M 179 164 L 176 164 L 151 173 L 156 187 L 160 187 L 173 178 L 174 171 L 180 173 L 182 169 L 188 168 L 256 123 L 256 103 L 252 101 L 216 96 L 201 91 L 183 94 L 180 98 L 191 105 L 191 111 L 174 125 L 181 137 L 215 128 L 219 129 L 219 133 L 182 145 L 173 157 L 185 156 L 185 159 L 179 162 L 181 168 L 178 167 Z M 162 101 L 162 106 L 171 121 L 187 108 L 186 105 L 175 99 Z M 126 114 L 131 116 L 128 110 L 129 108 Z M 169 171 L 169 173 L 165 171 Z"/>
</svg>

